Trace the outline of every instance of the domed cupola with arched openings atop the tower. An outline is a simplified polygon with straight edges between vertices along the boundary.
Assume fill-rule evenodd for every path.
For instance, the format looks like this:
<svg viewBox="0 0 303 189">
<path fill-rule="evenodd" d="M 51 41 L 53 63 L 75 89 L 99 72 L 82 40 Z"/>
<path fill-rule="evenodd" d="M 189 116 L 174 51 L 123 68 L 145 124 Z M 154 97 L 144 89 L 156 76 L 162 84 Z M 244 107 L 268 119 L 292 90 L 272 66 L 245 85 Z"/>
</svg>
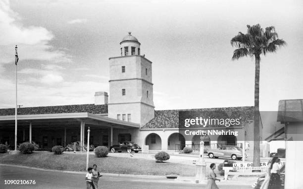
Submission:
<svg viewBox="0 0 303 189">
<path fill-rule="evenodd" d="M 140 45 L 138 39 L 128 32 L 120 42 L 121 56 L 140 55 Z"/>
</svg>

